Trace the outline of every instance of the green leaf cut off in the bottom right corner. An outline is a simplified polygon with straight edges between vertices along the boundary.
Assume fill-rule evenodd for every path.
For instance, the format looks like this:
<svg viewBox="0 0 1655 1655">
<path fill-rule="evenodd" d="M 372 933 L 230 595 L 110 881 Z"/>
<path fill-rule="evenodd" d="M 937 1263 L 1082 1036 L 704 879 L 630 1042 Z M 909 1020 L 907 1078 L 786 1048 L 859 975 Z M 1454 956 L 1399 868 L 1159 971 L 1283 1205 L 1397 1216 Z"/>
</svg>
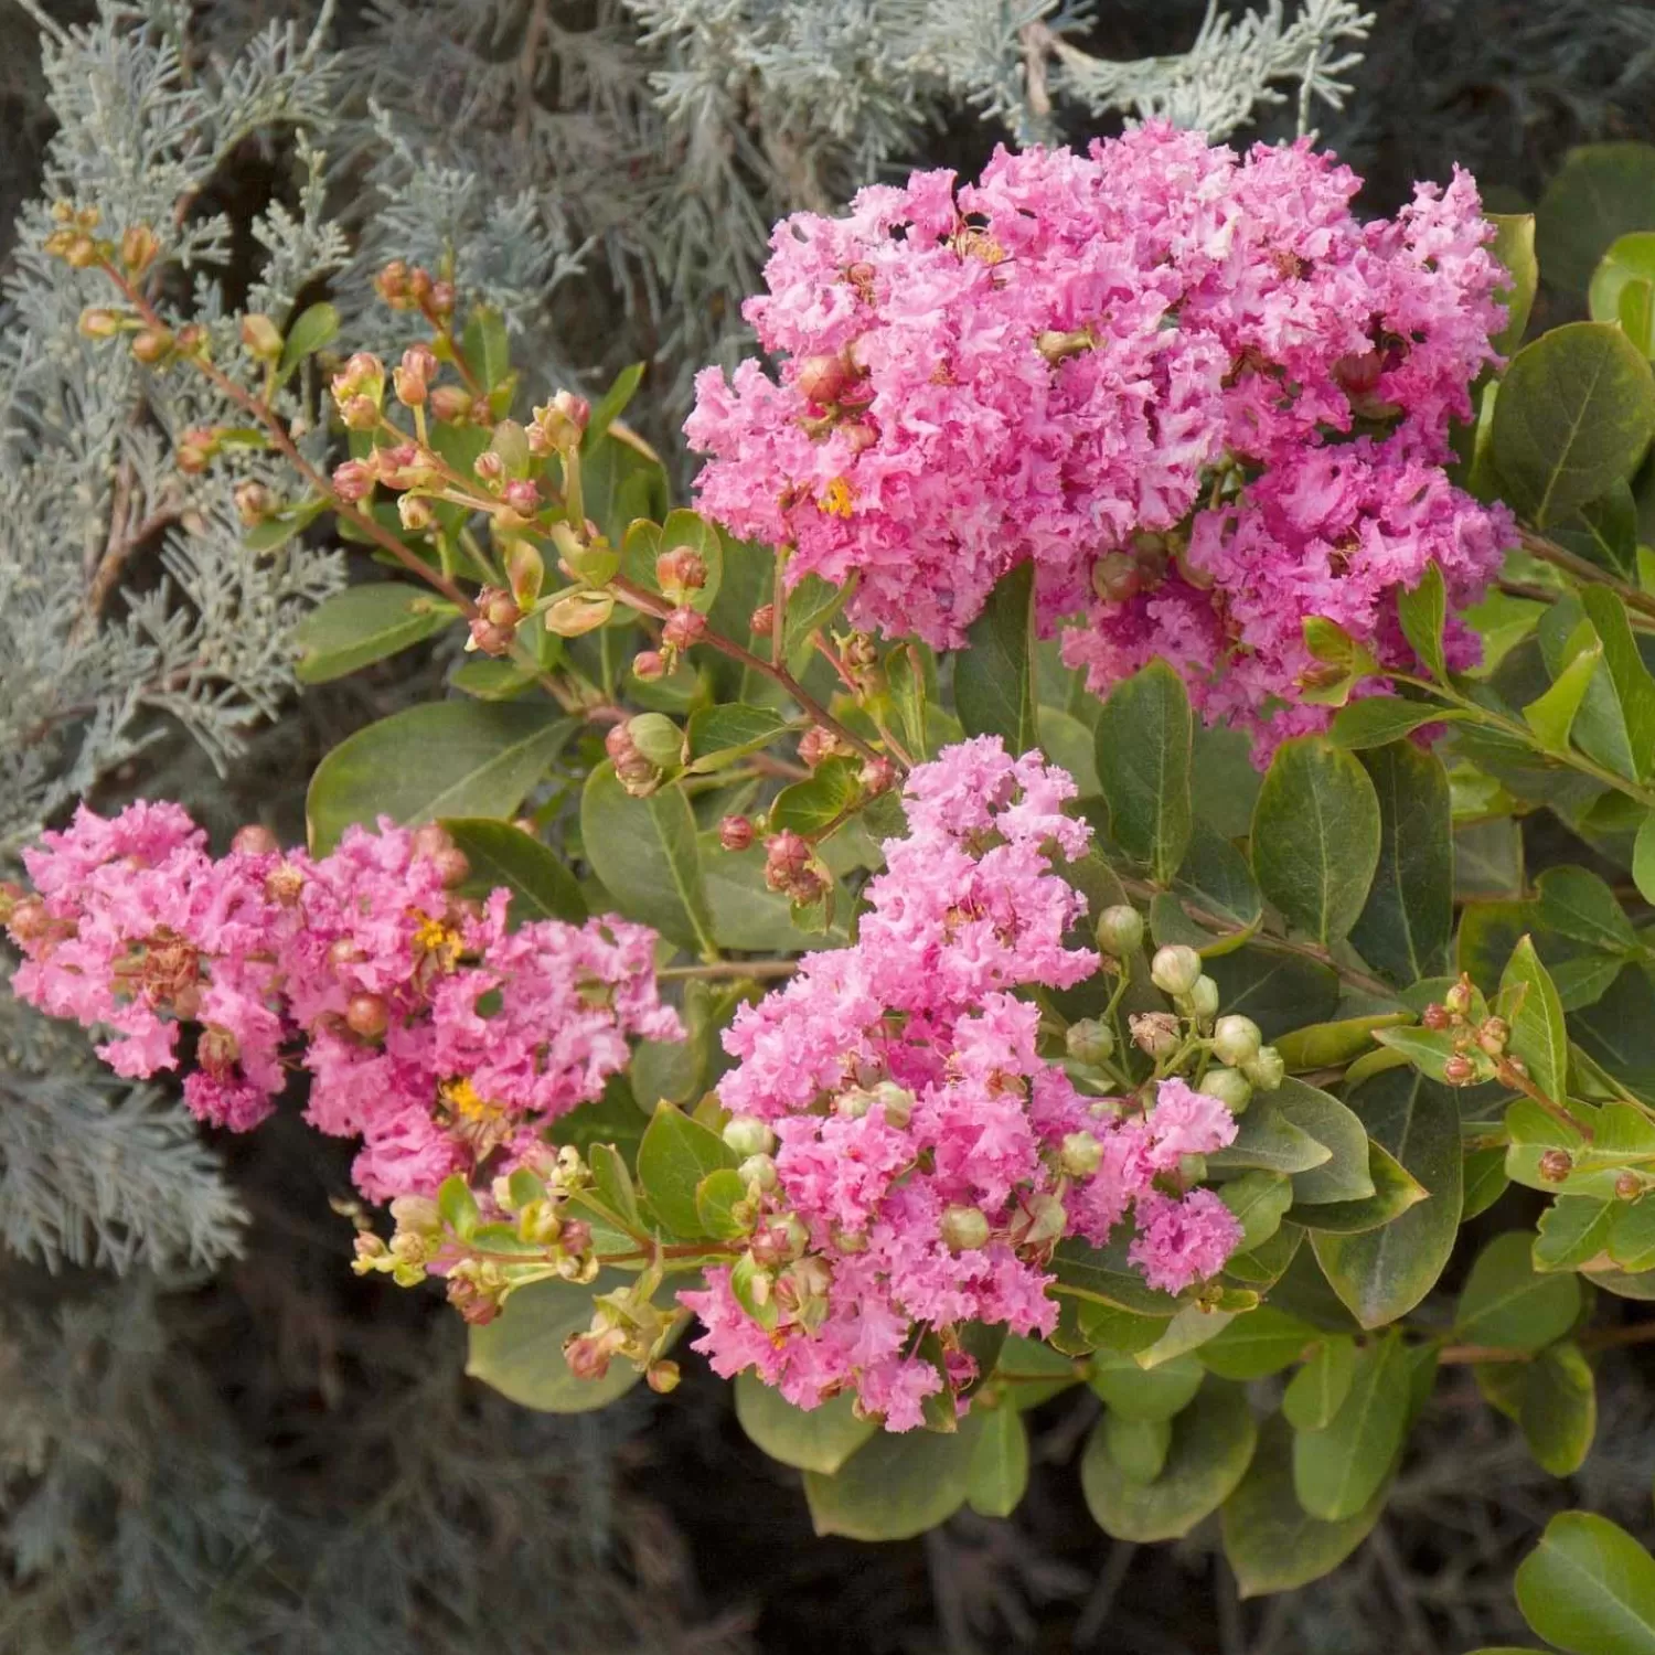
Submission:
<svg viewBox="0 0 1655 1655">
<path fill-rule="evenodd" d="M 1590 1511 L 1561 1511 L 1518 1564 L 1518 1607 L 1571 1655 L 1655 1655 L 1655 1559 Z"/>
</svg>

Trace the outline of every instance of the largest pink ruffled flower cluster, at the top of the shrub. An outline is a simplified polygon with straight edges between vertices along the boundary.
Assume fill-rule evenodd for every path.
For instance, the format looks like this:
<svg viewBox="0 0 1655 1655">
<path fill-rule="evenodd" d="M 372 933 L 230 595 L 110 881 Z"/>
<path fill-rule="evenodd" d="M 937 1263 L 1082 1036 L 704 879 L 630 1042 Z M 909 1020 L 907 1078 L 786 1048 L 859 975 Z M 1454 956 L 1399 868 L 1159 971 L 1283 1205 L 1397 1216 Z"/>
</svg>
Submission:
<svg viewBox="0 0 1655 1655">
<path fill-rule="evenodd" d="M 791 579 L 857 576 L 861 624 L 957 647 L 1033 561 L 1094 688 L 1163 654 L 1208 718 L 1324 720 L 1298 680 L 1329 592 L 1395 660 L 1379 597 L 1433 561 L 1471 597 L 1509 535 L 1442 470 L 1504 316 L 1476 189 L 1364 225 L 1359 184 L 1152 122 L 794 215 L 746 306 L 780 381 L 697 381 L 700 505 Z"/>
</svg>

